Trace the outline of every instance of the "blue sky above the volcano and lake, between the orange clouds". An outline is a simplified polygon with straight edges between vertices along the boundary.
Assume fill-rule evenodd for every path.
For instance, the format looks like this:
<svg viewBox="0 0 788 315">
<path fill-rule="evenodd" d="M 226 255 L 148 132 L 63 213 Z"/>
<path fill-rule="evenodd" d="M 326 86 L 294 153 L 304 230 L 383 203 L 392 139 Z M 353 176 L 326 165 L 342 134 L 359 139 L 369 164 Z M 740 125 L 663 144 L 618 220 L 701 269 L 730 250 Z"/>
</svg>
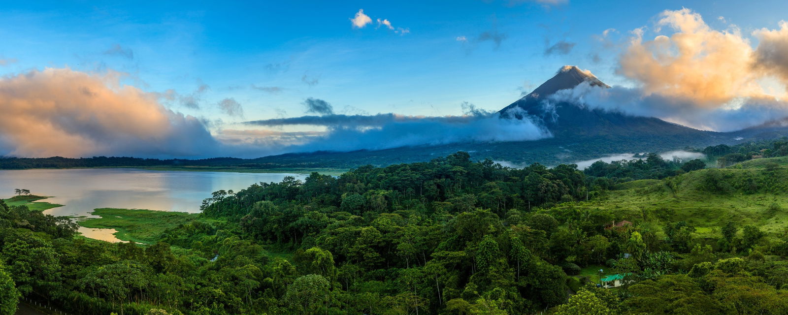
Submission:
<svg viewBox="0 0 788 315">
<path fill-rule="evenodd" d="M 679 12 L 682 8 L 690 11 Z M 351 23 L 359 10 L 363 10 L 371 21 L 362 28 Z M 644 32 L 643 40 L 648 42 L 644 44 L 645 50 L 659 53 L 660 47 L 652 45 L 656 43 L 652 41 L 656 35 L 666 33 L 657 23 L 667 17 L 663 14 L 666 10 L 682 18 L 695 15 L 703 18 L 712 32 L 698 33 L 698 43 L 715 43 L 715 36 L 735 30 L 732 43 L 745 41 L 737 51 L 746 52 L 757 46 L 759 38 L 753 32 L 761 28 L 786 31 L 785 35 L 773 36 L 775 47 L 783 40 L 788 41 L 788 26 L 781 28 L 779 24 L 788 19 L 788 2 L 785 1 L 745 4 L 736 1 L 572 0 L 6 2 L 0 9 L 0 74 L 5 78 L 0 83 L 17 84 L 24 81 L 21 74 L 47 68 L 67 68 L 72 72 L 58 72 L 54 76 L 84 79 L 88 85 L 93 81 L 81 77 L 80 73 L 120 75 L 121 84 L 156 95 L 155 102 L 185 117 L 173 118 L 149 106 L 145 108 L 153 110 L 154 114 L 149 115 L 153 118 L 145 123 L 156 123 L 159 119 L 156 115 L 169 115 L 166 119 L 173 125 L 189 125 L 198 133 L 204 133 L 201 127 L 187 121 L 191 116 L 201 121 L 200 124 L 214 136 L 223 129 L 248 130 L 250 125 L 240 124 L 247 120 L 301 117 L 307 114 L 307 99 L 328 102 L 337 114 L 452 116 L 463 113 L 465 102 L 481 109 L 501 109 L 520 98 L 523 92 L 548 80 L 563 65 L 589 69 L 615 86 L 645 85 L 643 93 L 653 93 L 654 89 L 648 87 L 649 78 L 645 77 L 648 74 L 637 73 L 637 65 L 630 64 L 629 74 L 622 75 L 621 56 L 636 29 Z M 378 19 L 388 21 L 392 29 Z M 661 27 L 673 28 L 667 31 L 670 35 L 678 32 L 679 25 L 663 23 Z M 704 37 L 706 35 L 708 38 Z M 680 40 L 671 44 L 678 45 Z M 696 57 L 704 57 L 707 53 L 701 52 Z M 649 59 L 648 55 L 630 57 Z M 698 65 L 716 67 L 719 64 L 711 58 L 706 59 Z M 749 76 L 750 63 L 738 62 L 737 71 Z M 672 66 L 667 65 L 665 72 L 680 69 Z M 725 71 L 719 70 L 722 73 L 714 76 L 719 79 Z M 779 77 L 779 71 L 782 70 L 753 74 L 753 78 Z M 43 81 L 35 84 L 58 87 L 57 80 L 44 80 L 43 76 L 39 79 Z M 656 88 L 675 85 L 678 79 L 663 76 L 661 85 Z M 772 81 L 771 86 L 782 88 L 782 81 Z M 117 91 L 117 87 L 110 89 Z M 34 90 L 31 88 L 26 97 L 38 98 L 40 94 Z M 661 92 L 686 97 L 681 91 Z M 728 102 L 741 99 L 739 96 L 756 95 L 751 92 L 742 90 L 742 95 L 723 95 L 715 99 Z M 756 96 L 762 99 L 764 93 Z M 705 106 L 706 100 L 694 101 L 700 103 L 700 107 Z M 118 102 L 124 104 L 125 101 Z M 35 107 L 37 103 L 28 104 Z M 81 105 L 69 100 L 69 104 L 58 106 L 71 110 Z M 100 108 L 101 104 L 92 106 Z M 72 118 L 82 117 L 81 113 L 75 113 Z M 122 115 L 119 113 L 122 110 L 112 112 Z M 724 125 L 728 124 L 728 117 L 739 114 L 730 113 L 720 116 L 724 118 L 720 118 L 722 123 L 713 124 L 681 120 L 682 115 L 686 116 L 686 111 L 681 110 L 667 113 L 661 109 L 638 107 L 634 114 L 713 130 L 741 127 L 741 124 Z M 748 124 L 762 121 L 763 116 L 763 113 L 753 116 Z M 101 133 L 91 134 L 95 128 L 67 130 L 84 122 L 61 124 L 58 117 L 31 119 L 51 121 L 54 127 L 50 126 L 49 132 L 76 137 L 90 146 L 99 147 L 105 141 Z M 179 119 L 187 122 L 179 124 Z M 101 128 L 111 127 L 105 123 L 102 122 Z M 161 130 L 173 128 L 164 126 Z M 316 130 L 325 132 L 326 128 L 317 126 Z M 279 127 L 277 130 L 305 132 L 307 129 Z M 130 133 L 134 132 L 137 131 Z M 467 134 L 473 132 L 469 130 Z M 118 136 L 125 135 L 121 132 Z M 25 138 L 20 135 L 13 140 L 0 139 L 0 147 L 6 146 L 4 141 L 24 143 L 20 139 Z M 0 150 L 5 152 L 0 153 L 58 152 L 19 150 L 19 144 L 7 146 L 10 149 Z M 72 152 L 74 154 L 80 153 Z"/>
</svg>

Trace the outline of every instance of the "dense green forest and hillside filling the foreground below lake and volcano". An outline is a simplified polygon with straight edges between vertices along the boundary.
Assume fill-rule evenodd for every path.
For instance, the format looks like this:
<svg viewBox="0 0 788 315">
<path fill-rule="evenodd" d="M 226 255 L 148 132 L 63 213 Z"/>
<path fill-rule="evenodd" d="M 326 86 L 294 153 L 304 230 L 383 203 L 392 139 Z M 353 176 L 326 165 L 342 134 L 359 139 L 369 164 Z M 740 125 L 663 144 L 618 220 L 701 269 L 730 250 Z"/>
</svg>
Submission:
<svg viewBox="0 0 788 315">
<path fill-rule="evenodd" d="M 20 296 L 104 315 L 788 313 L 785 141 L 703 151 L 315 172 L 214 192 L 153 245 L 0 201 L 0 315 Z"/>
</svg>

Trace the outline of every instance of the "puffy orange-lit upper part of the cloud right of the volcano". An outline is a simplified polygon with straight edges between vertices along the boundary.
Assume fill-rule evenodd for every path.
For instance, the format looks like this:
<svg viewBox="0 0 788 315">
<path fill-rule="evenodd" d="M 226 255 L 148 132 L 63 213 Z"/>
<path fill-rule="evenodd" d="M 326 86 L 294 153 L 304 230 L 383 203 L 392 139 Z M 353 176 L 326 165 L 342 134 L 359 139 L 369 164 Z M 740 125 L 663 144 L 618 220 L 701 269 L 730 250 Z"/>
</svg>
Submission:
<svg viewBox="0 0 788 315">
<path fill-rule="evenodd" d="M 667 29 L 667 35 L 644 40 L 642 29 L 633 31 L 619 61 L 618 72 L 641 83 L 645 93 L 705 107 L 764 95 L 758 80 L 766 73 L 755 66 L 753 47 L 738 29 L 712 29 L 689 9 L 664 11 L 654 29 Z"/>
</svg>

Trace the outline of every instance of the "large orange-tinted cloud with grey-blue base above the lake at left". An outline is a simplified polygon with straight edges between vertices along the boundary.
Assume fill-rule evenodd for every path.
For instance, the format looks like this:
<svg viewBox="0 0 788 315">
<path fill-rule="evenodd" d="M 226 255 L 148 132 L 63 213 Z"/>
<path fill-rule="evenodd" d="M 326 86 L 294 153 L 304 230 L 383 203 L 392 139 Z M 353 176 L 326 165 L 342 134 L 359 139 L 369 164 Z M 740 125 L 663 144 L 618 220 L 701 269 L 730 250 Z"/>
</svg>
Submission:
<svg viewBox="0 0 788 315">
<path fill-rule="evenodd" d="M 190 156 L 215 141 L 195 117 L 118 76 L 44 69 L 0 79 L 0 149 L 23 157 Z"/>
</svg>

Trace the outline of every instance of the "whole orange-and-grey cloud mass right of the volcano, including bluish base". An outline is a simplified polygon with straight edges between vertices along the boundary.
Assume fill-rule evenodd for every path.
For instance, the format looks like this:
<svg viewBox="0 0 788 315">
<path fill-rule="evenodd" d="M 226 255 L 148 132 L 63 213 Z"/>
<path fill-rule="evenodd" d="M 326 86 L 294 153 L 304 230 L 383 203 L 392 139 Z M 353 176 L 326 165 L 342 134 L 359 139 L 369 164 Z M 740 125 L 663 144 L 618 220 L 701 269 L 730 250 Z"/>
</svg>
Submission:
<svg viewBox="0 0 788 315">
<path fill-rule="evenodd" d="M 552 101 L 719 132 L 788 117 L 788 23 L 753 31 L 757 46 L 735 25 L 713 29 L 690 9 L 664 11 L 650 29 L 650 40 L 649 28 L 632 31 L 619 58 L 617 72 L 636 87 L 581 84 Z"/>
</svg>

